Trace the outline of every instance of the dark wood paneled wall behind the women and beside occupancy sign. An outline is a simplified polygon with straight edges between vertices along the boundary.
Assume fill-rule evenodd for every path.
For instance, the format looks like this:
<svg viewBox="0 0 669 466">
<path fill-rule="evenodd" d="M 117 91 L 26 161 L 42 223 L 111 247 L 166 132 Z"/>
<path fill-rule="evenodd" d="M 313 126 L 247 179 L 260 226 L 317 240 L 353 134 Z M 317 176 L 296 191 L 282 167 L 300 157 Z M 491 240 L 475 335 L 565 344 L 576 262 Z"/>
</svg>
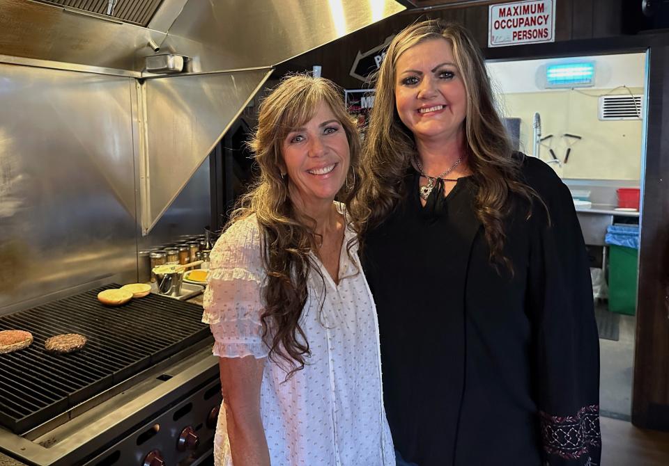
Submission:
<svg viewBox="0 0 669 466">
<path fill-rule="evenodd" d="M 443 5 L 447 2 L 426 0 L 422 3 L 424 5 Z M 622 3 L 623 0 L 557 0 L 555 40 L 559 42 L 620 35 L 622 32 Z M 436 18 L 464 24 L 475 36 L 479 45 L 482 48 L 487 47 L 487 4 L 460 8 L 443 6 L 430 10 L 409 10 L 293 58 L 277 67 L 275 77 L 281 77 L 287 72 L 309 71 L 312 70 L 313 65 L 321 65 L 323 67 L 322 76 L 332 79 L 339 86 L 346 89 L 363 88 L 362 81 L 349 75 L 358 51 L 364 53 L 377 47 L 389 35 L 398 33 L 408 24 L 421 19 Z"/>
</svg>

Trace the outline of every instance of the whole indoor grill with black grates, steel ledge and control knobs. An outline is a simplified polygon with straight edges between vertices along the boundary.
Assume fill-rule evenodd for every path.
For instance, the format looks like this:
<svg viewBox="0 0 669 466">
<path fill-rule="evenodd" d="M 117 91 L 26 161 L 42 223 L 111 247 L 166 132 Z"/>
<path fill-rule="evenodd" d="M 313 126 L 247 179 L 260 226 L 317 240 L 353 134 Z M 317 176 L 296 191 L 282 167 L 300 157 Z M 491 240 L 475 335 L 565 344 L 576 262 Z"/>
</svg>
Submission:
<svg viewBox="0 0 669 466">
<path fill-rule="evenodd" d="M 194 465 L 210 451 L 220 382 L 202 308 L 155 294 L 117 307 L 98 301 L 118 287 L 0 317 L 0 330 L 34 338 L 0 355 L 0 448 L 10 456 L 36 465 Z M 86 346 L 45 351 L 61 333 L 84 335 Z"/>
</svg>

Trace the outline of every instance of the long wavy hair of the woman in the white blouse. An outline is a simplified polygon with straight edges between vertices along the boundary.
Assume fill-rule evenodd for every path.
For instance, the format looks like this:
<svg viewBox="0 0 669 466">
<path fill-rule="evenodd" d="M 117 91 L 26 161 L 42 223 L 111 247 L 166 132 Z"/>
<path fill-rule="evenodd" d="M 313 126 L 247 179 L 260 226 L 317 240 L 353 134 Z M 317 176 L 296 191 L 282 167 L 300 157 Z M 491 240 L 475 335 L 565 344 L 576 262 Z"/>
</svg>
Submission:
<svg viewBox="0 0 669 466">
<path fill-rule="evenodd" d="M 263 287 L 266 305 L 261 314 L 263 339 L 270 346 L 270 360 L 286 369 L 286 378 L 303 369 L 305 357 L 310 355 L 300 316 L 308 298 L 309 270 L 319 274 L 320 271 L 309 257 L 310 251 L 318 255 L 316 223 L 300 213 L 291 201 L 289 177 L 282 175 L 282 170 L 285 171 L 282 143 L 291 131 L 311 120 L 321 102 L 330 106 L 348 138 L 351 164 L 338 194 L 348 207 L 360 181 L 360 173 L 355 172 L 359 169 L 361 149 L 357 127 L 344 106 L 343 92 L 328 79 L 294 74 L 283 79 L 259 107 L 258 127 L 249 142 L 260 168 L 259 178 L 240 198 L 228 223 L 229 226 L 256 215 L 263 243 L 263 265 L 268 275 Z M 354 229 L 359 225 L 350 214 L 346 220 Z M 347 245 L 349 255 L 353 241 Z"/>
</svg>

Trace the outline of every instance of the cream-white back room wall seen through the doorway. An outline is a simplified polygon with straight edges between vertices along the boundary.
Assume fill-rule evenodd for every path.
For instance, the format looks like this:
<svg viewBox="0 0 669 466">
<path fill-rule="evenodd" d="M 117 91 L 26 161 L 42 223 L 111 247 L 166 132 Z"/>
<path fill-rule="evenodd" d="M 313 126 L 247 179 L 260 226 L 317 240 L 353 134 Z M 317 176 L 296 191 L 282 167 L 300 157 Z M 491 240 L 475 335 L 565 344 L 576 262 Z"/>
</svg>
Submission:
<svg viewBox="0 0 669 466">
<path fill-rule="evenodd" d="M 488 63 L 497 90 L 502 115 L 521 118 L 521 150 L 532 153 L 532 118 L 541 115 L 542 135 L 553 134 L 545 145 L 558 158 L 577 134 L 569 162 L 562 168 L 551 164 L 560 177 L 570 179 L 638 180 L 641 170 L 642 120 L 600 121 L 599 96 L 644 93 L 645 54 L 578 57 L 561 61 L 594 61 L 595 86 L 577 90 L 541 88 L 541 73 L 556 60 Z M 626 88 L 619 88 L 626 86 Z M 541 159 L 548 161 L 548 147 L 541 147 Z"/>
</svg>

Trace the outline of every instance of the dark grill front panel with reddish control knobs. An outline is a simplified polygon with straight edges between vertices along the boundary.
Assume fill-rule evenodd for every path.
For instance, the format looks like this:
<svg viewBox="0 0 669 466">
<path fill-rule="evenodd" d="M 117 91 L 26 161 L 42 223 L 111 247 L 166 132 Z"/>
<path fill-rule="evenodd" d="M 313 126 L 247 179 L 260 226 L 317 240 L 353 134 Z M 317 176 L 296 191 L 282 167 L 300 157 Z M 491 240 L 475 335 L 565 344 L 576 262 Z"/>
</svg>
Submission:
<svg viewBox="0 0 669 466">
<path fill-rule="evenodd" d="M 222 401 L 217 378 L 137 428 L 86 466 L 196 465 L 211 453 Z"/>
</svg>

